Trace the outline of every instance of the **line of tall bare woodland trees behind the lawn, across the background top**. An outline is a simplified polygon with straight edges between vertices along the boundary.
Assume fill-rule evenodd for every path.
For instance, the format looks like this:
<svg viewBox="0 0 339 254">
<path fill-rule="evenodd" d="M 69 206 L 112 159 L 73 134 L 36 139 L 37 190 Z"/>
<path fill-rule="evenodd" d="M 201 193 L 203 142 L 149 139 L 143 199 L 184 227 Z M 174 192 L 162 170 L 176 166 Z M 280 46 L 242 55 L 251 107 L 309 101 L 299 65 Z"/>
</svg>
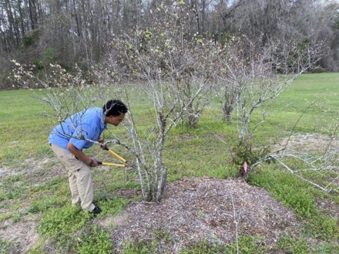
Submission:
<svg viewBox="0 0 339 254">
<path fill-rule="evenodd" d="M 0 66 L 2 86 L 11 59 L 38 69 L 59 63 L 89 69 L 107 58 L 119 35 L 148 29 L 160 2 L 151 0 L 3 0 L 0 3 Z M 323 40 L 330 49 L 319 63 L 339 70 L 339 3 L 318 0 L 182 0 L 189 34 L 217 42 L 234 35 L 302 42 Z M 165 18 L 164 18 L 165 20 Z M 1 87 L 1 85 L 0 85 Z"/>
</svg>

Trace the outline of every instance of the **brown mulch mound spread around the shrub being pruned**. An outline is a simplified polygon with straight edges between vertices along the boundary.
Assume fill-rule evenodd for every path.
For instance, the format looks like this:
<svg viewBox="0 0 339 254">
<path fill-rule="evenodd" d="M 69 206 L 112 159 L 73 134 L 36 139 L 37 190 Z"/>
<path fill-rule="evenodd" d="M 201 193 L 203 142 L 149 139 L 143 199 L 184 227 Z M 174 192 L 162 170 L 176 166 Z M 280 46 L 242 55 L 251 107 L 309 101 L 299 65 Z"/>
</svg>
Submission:
<svg viewBox="0 0 339 254">
<path fill-rule="evenodd" d="M 160 205 L 136 202 L 126 207 L 113 222 L 117 226 L 112 231 L 114 252 L 121 252 L 123 241 L 151 241 L 157 231 L 172 238 L 164 245 L 167 253 L 179 253 L 201 241 L 233 243 L 234 214 L 239 237 L 263 236 L 261 244 L 268 247 L 268 253 L 283 232 L 297 235 L 295 214 L 263 188 L 239 179 L 203 177 L 167 183 Z"/>
</svg>

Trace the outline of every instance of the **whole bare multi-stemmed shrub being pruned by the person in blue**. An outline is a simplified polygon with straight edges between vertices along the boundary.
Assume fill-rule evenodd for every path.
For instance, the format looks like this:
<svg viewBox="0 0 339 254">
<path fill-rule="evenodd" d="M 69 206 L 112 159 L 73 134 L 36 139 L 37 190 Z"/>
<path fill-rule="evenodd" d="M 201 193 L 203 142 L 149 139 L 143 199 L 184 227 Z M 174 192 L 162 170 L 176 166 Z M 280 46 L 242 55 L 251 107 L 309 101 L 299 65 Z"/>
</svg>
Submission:
<svg viewBox="0 0 339 254">
<path fill-rule="evenodd" d="M 162 152 L 167 134 L 184 116 L 197 123 L 210 101 L 218 71 L 215 65 L 220 54 L 218 44 L 193 35 L 192 40 L 185 38 L 189 17 L 185 8 L 180 1 L 160 4 L 153 10 L 149 28 L 136 28 L 133 33 L 117 37 L 112 42 L 107 68 L 96 71 L 97 85 L 85 85 L 79 75 L 73 76 L 61 68 L 55 81 L 47 75 L 43 82 L 42 79 L 38 82 L 47 88 L 42 99 L 53 109 L 52 116 L 58 121 L 108 95 L 124 97 L 130 108 L 125 125 L 129 138 L 123 143 L 116 137 L 114 143 L 135 155 L 143 200 L 147 201 L 160 202 L 162 198 L 167 179 Z M 20 71 L 16 75 L 20 78 Z M 28 76 L 34 78 L 32 70 Z M 58 77 L 63 82 L 58 83 Z M 148 116 L 150 128 L 146 137 L 133 114 L 130 85 L 119 85 L 117 80 L 124 84 L 138 80 L 139 92 L 150 98 L 153 111 Z M 112 82 L 114 86 L 107 85 Z"/>
</svg>

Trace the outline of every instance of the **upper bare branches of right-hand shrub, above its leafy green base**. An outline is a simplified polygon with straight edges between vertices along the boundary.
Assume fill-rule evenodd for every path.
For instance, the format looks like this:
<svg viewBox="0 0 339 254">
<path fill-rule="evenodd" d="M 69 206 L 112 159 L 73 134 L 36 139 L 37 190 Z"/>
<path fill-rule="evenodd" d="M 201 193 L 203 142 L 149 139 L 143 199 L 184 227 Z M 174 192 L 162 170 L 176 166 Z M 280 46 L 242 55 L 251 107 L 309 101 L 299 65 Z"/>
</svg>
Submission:
<svg viewBox="0 0 339 254">
<path fill-rule="evenodd" d="M 259 123 L 251 121 L 255 109 L 275 99 L 293 80 L 307 71 L 326 54 L 323 42 L 273 42 L 261 47 L 262 39 L 234 37 L 227 44 L 222 65 L 224 118 L 230 119 L 237 109 L 239 140 L 251 133 Z M 263 115 L 264 120 L 264 115 Z"/>
</svg>

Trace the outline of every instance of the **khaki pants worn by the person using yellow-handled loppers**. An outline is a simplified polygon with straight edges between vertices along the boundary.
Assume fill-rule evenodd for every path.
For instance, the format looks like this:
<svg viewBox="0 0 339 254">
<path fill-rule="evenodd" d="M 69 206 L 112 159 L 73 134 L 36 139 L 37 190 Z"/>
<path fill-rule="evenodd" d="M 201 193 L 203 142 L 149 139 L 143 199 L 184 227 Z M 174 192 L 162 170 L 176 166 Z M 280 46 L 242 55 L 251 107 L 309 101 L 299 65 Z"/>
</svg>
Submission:
<svg viewBox="0 0 339 254">
<path fill-rule="evenodd" d="M 64 164 L 69 174 L 69 187 L 71 188 L 72 205 L 81 204 L 84 211 L 93 211 L 93 181 L 90 167 L 66 150 L 51 145 L 53 152 Z"/>
</svg>

